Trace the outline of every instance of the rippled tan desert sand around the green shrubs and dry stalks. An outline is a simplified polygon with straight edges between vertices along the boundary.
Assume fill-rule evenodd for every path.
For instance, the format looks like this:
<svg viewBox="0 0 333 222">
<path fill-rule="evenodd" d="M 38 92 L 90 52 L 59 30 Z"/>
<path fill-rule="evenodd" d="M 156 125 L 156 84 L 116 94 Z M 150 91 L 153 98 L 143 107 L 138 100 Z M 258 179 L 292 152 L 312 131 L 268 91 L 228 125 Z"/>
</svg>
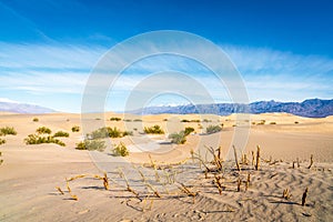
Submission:
<svg viewBox="0 0 333 222">
<path fill-rule="evenodd" d="M 39 118 L 38 122 L 32 121 L 34 117 Z M 110 117 L 121 115 L 107 113 L 104 119 Z M 73 125 L 80 125 L 79 114 L 1 114 L 0 128 L 13 127 L 18 134 L 1 137 L 7 143 L 0 145 L 0 160 L 3 160 L 0 165 L 0 221 L 333 221 L 333 117 L 309 119 L 284 113 L 251 115 L 249 141 L 243 151 L 248 154 L 249 164 L 243 164 L 243 171 L 239 173 L 234 161 L 224 163 L 221 195 L 212 183 L 213 173 L 208 173 L 205 179 L 204 168 L 201 170 L 198 161 L 193 163 L 190 151 L 194 149 L 204 157 L 204 145 L 221 145 L 222 157 L 225 157 L 228 149 L 235 142 L 232 141 L 234 129 L 242 131 L 244 127 L 243 122 L 235 120 L 236 115 L 204 118 L 212 122 L 200 122 L 203 128 L 223 123 L 222 132 L 199 134 L 202 131 L 199 123 L 180 122 L 184 119 L 200 119 L 199 115 L 162 114 L 143 117 L 142 122 L 105 121 L 107 125 L 134 132 L 132 139 L 127 137 L 112 140 L 115 144 L 122 141 L 131 149 L 130 155 L 123 160 L 108 153 L 74 149 L 75 143 L 82 139 L 82 132 L 71 132 Z M 138 117 L 125 119 L 134 120 Z M 258 124 L 262 120 L 265 123 Z M 88 121 L 92 129 L 103 123 L 103 120 L 97 120 L 93 115 Z M 183 145 L 174 145 L 169 144 L 164 135 L 141 135 L 142 124 L 160 124 L 167 133 L 193 127 L 198 134 L 189 135 Z M 42 125 L 53 132 L 70 132 L 70 138 L 61 139 L 67 147 L 26 145 L 23 139 Z M 134 128 L 138 130 L 134 131 Z M 251 151 L 255 151 L 258 144 L 261 147 L 262 167 L 255 171 L 251 164 Z M 142 167 L 149 165 L 150 159 L 148 153 L 140 152 L 140 148 L 158 148 L 151 157 L 160 167 L 176 163 L 165 167 L 167 170 L 158 170 L 160 183 L 155 182 L 153 170 L 145 171 Z M 161 149 L 168 149 L 169 152 L 161 152 Z M 307 169 L 311 154 L 314 164 Z M 292 169 L 292 162 L 296 159 L 300 160 L 300 168 L 295 165 Z M 142 202 L 127 191 L 124 179 L 119 176 L 119 168 L 122 168 L 131 186 L 139 192 Z M 154 196 L 145 188 L 134 168 L 142 170 L 162 198 Z M 103 171 L 108 172 L 110 179 L 108 191 L 101 180 L 93 178 L 95 174 L 103 176 Z M 178 172 L 176 181 L 199 192 L 194 203 L 193 198 L 182 193 L 175 184 L 161 184 L 167 180 L 165 172 Z M 244 191 L 243 183 L 241 192 L 238 192 L 239 175 L 244 182 L 248 173 L 251 174 L 249 190 Z M 79 174 L 85 178 L 69 182 L 72 193 L 79 199 L 74 201 L 68 193 L 65 178 Z M 56 186 L 60 186 L 64 195 Z M 307 201 L 302 206 L 305 188 L 309 188 Z M 289 189 L 292 194 L 289 200 L 282 199 L 284 189 Z M 148 193 L 150 196 L 144 200 Z M 142 208 L 145 208 L 144 212 Z"/>
</svg>

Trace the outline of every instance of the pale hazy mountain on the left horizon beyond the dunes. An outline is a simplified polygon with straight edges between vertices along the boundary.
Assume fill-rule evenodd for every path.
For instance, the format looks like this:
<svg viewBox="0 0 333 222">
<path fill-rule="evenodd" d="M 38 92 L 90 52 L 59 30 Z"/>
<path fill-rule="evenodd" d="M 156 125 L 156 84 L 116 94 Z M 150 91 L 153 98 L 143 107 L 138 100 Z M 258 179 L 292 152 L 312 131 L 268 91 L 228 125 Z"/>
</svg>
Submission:
<svg viewBox="0 0 333 222">
<path fill-rule="evenodd" d="M 24 104 L 24 103 L 14 103 L 14 102 L 0 102 L 1 112 L 16 112 L 16 113 L 50 113 L 56 112 L 52 109 L 43 108 L 36 104 Z"/>
</svg>

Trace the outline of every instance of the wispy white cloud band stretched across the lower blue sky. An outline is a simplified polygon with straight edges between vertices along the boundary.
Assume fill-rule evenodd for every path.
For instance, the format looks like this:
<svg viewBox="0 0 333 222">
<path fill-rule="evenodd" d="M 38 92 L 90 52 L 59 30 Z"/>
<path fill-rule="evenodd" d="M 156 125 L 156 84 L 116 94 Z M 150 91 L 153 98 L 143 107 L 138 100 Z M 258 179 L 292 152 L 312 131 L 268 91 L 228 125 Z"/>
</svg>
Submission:
<svg viewBox="0 0 333 222">
<path fill-rule="evenodd" d="M 302 100 L 302 98 L 309 97 L 324 98 L 333 93 L 331 87 L 333 85 L 333 60 L 330 58 L 299 56 L 271 49 L 234 46 L 222 46 L 221 48 L 241 72 L 252 101 L 263 99 Z M 99 46 L 0 42 L 0 91 L 6 93 L 2 97 L 10 100 L 10 91 L 39 95 L 43 93 L 81 95 L 90 71 L 107 50 Z M 140 47 L 133 50 L 144 51 Z M 205 57 L 210 54 L 200 46 L 198 48 L 193 46 L 189 50 L 198 54 L 206 54 Z M 124 54 L 123 58 L 112 60 L 111 64 L 99 68 L 108 70 L 108 68 L 112 69 L 119 64 L 127 64 L 127 62 Z M 167 70 L 186 73 L 202 84 L 219 102 L 230 100 L 228 85 L 224 85 L 206 68 L 189 59 L 172 56 L 152 57 L 133 63 L 112 87 L 113 94 L 121 98 L 118 101 L 123 101 L 130 91 L 147 81 L 149 74 Z M 103 73 L 97 83 L 107 88 L 108 81 L 103 81 L 103 77 L 108 78 Z M 160 79 L 147 84 L 141 91 L 158 91 L 164 85 L 184 88 L 184 82 L 178 81 L 174 78 Z M 230 83 L 229 87 L 236 88 L 239 85 Z M 201 95 L 195 89 L 192 89 L 191 93 L 193 97 Z"/>
</svg>

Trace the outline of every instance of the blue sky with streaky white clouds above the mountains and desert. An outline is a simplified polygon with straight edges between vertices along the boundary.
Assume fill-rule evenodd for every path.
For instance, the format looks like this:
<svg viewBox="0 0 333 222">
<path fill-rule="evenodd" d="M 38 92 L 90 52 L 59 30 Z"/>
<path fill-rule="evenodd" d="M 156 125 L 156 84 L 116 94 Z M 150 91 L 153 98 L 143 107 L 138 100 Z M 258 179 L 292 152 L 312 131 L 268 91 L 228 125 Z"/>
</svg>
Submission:
<svg viewBox="0 0 333 222">
<path fill-rule="evenodd" d="M 242 74 L 250 101 L 332 99 L 332 11 L 330 0 L 0 0 L 0 101 L 80 112 L 99 59 L 114 44 L 155 30 L 192 32 L 220 46 Z M 192 74 L 216 102 L 230 101 L 201 67 L 158 58 L 123 73 L 107 109 L 123 109 L 143 73 L 161 67 Z M 186 102 L 162 95 L 151 104 Z"/>
</svg>

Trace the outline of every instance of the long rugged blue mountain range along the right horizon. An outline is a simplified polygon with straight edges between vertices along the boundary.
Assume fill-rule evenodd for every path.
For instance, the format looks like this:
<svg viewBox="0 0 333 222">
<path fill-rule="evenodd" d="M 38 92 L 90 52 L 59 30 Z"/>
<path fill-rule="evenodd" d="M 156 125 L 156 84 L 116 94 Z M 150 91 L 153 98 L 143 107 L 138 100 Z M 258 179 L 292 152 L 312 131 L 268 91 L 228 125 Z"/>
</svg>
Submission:
<svg viewBox="0 0 333 222">
<path fill-rule="evenodd" d="M 249 105 L 239 103 L 215 103 L 215 104 L 186 104 L 176 107 L 149 107 L 140 110 L 130 111 L 133 114 L 190 114 L 190 113 L 210 113 L 219 115 L 229 115 L 232 113 L 266 113 L 266 112 L 286 112 L 301 117 L 324 118 L 333 115 L 333 100 L 310 99 L 303 102 L 276 102 L 260 101 Z"/>
</svg>

